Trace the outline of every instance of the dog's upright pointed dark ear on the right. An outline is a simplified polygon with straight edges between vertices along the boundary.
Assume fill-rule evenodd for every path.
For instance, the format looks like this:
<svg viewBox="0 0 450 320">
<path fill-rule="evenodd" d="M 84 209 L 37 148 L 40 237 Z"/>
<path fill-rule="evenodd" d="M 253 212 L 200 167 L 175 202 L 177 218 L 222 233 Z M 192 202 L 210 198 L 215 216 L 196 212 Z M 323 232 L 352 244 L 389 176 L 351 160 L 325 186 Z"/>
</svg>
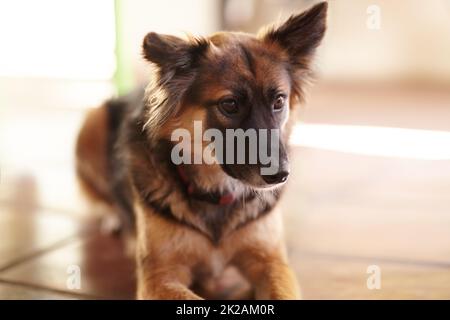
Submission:
<svg viewBox="0 0 450 320">
<path fill-rule="evenodd" d="M 320 44 L 326 30 L 327 2 L 321 2 L 309 10 L 291 16 L 278 28 L 263 35 L 263 41 L 276 43 L 286 50 L 293 63 L 310 58 Z"/>
</svg>

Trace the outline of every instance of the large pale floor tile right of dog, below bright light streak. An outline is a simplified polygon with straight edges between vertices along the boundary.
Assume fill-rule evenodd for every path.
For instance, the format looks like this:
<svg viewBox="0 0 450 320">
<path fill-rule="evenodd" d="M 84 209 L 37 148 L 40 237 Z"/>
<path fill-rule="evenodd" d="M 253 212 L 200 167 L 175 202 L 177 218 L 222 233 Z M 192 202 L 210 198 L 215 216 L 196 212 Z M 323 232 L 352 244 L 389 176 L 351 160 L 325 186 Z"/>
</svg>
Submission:
<svg viewBox="0 0 450 320">
<path fill-rule="evenodd" d="M 293 159 L 282 200 L 292 250 L 450 264 L 448 162 L 305 148 Z"/>
</svg>

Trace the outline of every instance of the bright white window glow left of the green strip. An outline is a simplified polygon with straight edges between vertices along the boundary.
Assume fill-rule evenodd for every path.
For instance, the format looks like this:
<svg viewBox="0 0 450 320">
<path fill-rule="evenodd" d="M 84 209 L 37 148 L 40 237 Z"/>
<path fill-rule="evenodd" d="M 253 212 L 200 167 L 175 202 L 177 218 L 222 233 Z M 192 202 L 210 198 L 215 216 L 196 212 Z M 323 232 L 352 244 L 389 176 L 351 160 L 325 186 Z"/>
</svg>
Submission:
<svg viewBox="0 0 450 320">
<path fill-rule="evenodd" d="M 104 80 L 115 69 L 113 0 L 0 2 L 0 76 Z"/>
</svg>

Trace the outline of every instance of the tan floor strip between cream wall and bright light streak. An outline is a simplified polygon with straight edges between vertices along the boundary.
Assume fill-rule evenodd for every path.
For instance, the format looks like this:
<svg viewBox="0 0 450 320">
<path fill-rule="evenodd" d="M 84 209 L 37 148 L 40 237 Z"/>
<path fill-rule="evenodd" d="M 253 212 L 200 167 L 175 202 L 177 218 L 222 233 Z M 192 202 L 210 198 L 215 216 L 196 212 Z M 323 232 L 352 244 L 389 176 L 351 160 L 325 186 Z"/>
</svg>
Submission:
<svg viewBox="0 0 450 320">
<path fill-rule="evenodd" d="M 309 123 L 450 130 L 449 87 L 320 82 L 300 117 Z"/>
</svg>

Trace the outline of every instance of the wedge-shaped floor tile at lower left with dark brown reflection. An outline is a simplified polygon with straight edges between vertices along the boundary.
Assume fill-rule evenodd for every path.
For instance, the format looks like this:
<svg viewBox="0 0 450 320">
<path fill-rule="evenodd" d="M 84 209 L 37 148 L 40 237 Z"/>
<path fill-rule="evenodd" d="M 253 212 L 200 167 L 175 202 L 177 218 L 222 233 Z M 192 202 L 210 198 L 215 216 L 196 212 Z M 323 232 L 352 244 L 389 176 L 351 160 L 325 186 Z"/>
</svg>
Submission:
<svg viewBox="0 0 450 320">
<path fill-rule="evenodd" d="M 134 297 L 134 272 L 133 259 L 124 256 L 121 240 L 98 234 L 0 273 L 0 279 L 98 298 L 129 299 Z M 73 278 L 77 275 L 80 282 Z"/>
</svg>

